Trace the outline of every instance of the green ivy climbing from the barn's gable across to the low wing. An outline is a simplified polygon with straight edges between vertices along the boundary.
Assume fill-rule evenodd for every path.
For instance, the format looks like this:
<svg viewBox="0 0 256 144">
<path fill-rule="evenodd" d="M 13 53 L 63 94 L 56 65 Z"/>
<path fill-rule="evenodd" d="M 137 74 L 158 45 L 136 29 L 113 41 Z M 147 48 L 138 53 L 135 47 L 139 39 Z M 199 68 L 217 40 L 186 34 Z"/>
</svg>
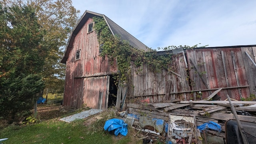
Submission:
<svg viewBox="0 0 256 144">
<path fill-rule="evenodd" d="M 148 49 L 148 52 L 140 50 L 138 48 L 133 48 L 130 46 L 129 42 L 121 40 L 119 36 L 110 32 L 104 18 L 94 17 L 93 18 L 94 30 L 98 36 L 98 42 L 101 46 L 102 52 L 101 56 L 103 58 L 107 57 L 111 64 L 114 60 L 117 60 L 118 70 L 120 74 L 116 76 L 116 80 L 121 80 L 121 82 L 127 82 L 128 75 L 130 74 L 131 58 L 135 59 L 135 66 L 143 66 L 146 64 L 150 66 L 152 72 L 162 72 L 162 69 L 170 70 L 171 56 L 168 51 L 164 55 L 158 55 L 156 50 Z M 174 46 L 166 47 L 164 50 L 170 50 Z"/>
</svg>

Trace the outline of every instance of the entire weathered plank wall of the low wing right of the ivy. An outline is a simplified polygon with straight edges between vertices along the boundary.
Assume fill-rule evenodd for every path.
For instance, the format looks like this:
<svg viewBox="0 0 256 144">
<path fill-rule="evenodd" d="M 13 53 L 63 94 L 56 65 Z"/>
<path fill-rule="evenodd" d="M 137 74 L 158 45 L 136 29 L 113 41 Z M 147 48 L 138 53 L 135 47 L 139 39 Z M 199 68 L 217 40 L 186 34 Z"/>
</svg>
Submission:
<svg viewBox="0 0 256 144">
<path fill-rule="evenodd" d="M 154 73 L 150 66 L 136 67 L 132 62 L 128 100 L 203 100 L 218 88 L 224 88 L 218 92 L 221 100 L 226 94 L 236 100 L 256 95 L 256 66 L 245 52 L 256 61 L 256 47 L 224 47 L 188 49 L 185 59 L 182 53 L 175 54 L 172 72 Z"/>
</svg>

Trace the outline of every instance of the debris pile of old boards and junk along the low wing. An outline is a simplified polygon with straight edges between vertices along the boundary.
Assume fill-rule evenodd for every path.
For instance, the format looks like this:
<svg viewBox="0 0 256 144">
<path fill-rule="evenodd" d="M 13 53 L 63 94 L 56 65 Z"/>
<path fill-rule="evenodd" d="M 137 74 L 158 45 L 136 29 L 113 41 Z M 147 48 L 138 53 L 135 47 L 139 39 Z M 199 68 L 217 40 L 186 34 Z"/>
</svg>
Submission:
<svg viewBox="0 0 256 144">
<path fill-rule="evenodd" d="M 232 101 L 240 121 L 256 124 L 255 101 Z M 125 122 L 154 140 L 170 144 L 225 143 L 225 122 L 236 119 L 228 101 L 180 101 L 127 104 Z M 212 124 L 212 125 L 211 125 Z M 200 130 L 199 130 L 199 129 Z M 255 138 L 255 136 L 254 136 Z M 145 143 L 146 144 L 146 143 Z"/>
</svg>

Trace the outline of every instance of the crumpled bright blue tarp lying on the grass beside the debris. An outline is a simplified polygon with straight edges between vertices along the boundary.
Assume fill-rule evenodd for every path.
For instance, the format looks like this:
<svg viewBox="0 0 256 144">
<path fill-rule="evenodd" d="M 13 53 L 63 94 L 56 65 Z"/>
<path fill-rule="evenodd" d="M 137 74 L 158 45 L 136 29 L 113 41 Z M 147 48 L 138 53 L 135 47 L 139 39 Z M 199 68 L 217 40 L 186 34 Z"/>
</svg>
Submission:
<svg viewBox="0 0 256 144">
<path fill-rule="evenodd" d="M 128 124 L 124 123 L 123 120 L 112 118 L 107 120 L 104 125 L 104 130 L 108 130 L 108 132 L 115 130 L 115 135 L 117 136 L 119 133 L 123 136 L 126 136 L 128 133 L 127 129 Z"/>
</svg>

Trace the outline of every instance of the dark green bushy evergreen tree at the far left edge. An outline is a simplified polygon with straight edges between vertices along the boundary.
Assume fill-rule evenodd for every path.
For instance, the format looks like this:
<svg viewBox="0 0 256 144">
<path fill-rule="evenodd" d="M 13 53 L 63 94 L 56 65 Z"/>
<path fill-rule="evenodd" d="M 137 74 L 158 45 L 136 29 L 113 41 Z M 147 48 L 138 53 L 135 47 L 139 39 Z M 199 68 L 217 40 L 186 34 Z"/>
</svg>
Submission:
<svg viewBox="0 0 256 144">
<path fill-rule="evenodd" d="M 45 34 L 34 8 L 0 4 L 0 117 L 27 113 L 44 88 Z"/>
</svg>

